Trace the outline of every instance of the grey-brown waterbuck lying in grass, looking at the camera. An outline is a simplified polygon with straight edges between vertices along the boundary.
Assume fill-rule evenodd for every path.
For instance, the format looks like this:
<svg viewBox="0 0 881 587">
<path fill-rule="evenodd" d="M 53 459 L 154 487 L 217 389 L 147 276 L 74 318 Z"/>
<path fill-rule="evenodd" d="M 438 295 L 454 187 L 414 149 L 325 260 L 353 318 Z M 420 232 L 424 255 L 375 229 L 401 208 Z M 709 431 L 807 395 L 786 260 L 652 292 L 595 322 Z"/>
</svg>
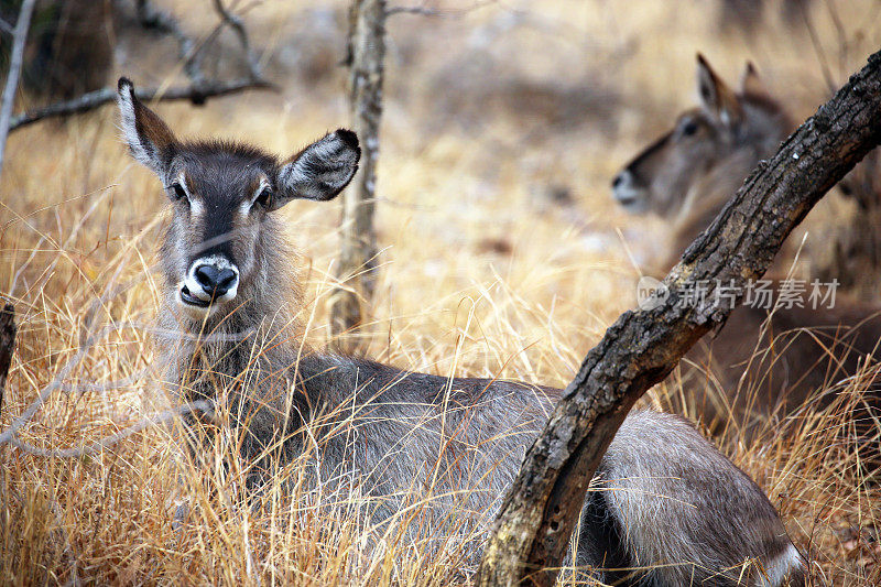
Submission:
<svg viewBox="0 0 881 587">
<path fill-rule="evenodd" d="M 411 539 L 481 536 L 561 391 L 409 372 L 305 346 L 276 210 L 346 187 L 358 169 L 355 133 L 337 130 L 280 162 L 249 145 L 178 141 L 124 78 L 119 108 L 132 154 L 171 200 L 160 253 L 163 330 L 178 333 L 161 349 L 170 380 L 181 402 L 213 402 L 213 425 L 239 432 L 250 485 L 307 455 L 306 483 L 367 503 L 373 530 L 412 515 L 415 501 L 426 506 L 409 522 Z M 195 435 L 208 426 L 187 424 Z M 573 556 L 586 576 L 670 586 L 804 580 L 765 494 L 684 420 L 633 412 L 600 477 Z M 469 552 L 466 567 L 479 544 Z M 642 570 L 621 570 L 633 567 Z"/>
</svg>

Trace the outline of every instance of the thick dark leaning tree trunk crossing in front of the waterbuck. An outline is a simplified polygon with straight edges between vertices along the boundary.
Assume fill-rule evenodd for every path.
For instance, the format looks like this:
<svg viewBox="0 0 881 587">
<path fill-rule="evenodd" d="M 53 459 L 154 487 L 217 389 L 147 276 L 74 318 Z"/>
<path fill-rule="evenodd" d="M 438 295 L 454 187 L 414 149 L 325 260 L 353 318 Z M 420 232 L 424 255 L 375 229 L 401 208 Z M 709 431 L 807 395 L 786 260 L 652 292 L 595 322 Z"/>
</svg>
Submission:
<svg viewBox="0 0 881 587">
<path fill-rule="evenodd" d="M 760 278 L 807 211 L 881 140 L 881 53 L 747 178 L 685 251 L 652 309 L 626 312 L 591 349 L 526 454 L 496 521 L 479 585 L 552 585 L 588 482 L 633 403 L 733 304 L 718 285 Z M 708 283 L 703 302 L 684 295 Z M 728 290 L 731 291 L 731 290 Z"/>
</svg>

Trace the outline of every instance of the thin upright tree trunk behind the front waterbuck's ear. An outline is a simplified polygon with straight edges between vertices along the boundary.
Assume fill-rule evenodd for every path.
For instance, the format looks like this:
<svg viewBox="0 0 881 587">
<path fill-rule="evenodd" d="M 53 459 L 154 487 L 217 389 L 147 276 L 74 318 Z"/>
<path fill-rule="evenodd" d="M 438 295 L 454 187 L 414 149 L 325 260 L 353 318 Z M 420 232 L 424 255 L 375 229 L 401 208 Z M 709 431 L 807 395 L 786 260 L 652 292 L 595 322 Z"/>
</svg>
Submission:
<svg viewBox="0 0 881 587">
<path fill-rule="evenodd" d="M 355 0 L 349 14 L 349 99 L 352 126 L 361 141 L 361 173 L 342 194 L 341 243 L 337 276 L 341 282 L 330 308 L 334 344 L 342 350 L 359 345 L 354 330 L 363 323 L 377 267 L 376 207 L 379 123 L 385 58 L 385 0 Z"/>
</svg>

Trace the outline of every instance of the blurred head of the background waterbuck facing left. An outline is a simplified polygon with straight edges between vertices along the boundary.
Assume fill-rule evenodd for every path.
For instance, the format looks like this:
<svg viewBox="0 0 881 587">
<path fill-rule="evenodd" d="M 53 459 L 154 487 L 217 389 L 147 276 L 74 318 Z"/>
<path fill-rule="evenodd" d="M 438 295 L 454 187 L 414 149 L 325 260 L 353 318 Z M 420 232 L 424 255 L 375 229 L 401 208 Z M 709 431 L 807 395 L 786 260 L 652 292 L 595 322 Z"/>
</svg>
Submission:
<svg viewBox="0 0 881 587">
<path fill-rule="evenodd" d="M 612 181 L 614 198 L 634 214 L 675 217 L 710 180 L 729 198 L 760 159 L 776 151 L 793 124 L 748 64 L 733 91 L 697 56 L 700 106 L 681 113 L 672 130 L 645 148 Z M 728 185 L 719 189 L 719 183 Z M 729 191 L 728 186 L 733 186 Z M 700 192 L 704 192 L 701 194 Z"/>
</svg>

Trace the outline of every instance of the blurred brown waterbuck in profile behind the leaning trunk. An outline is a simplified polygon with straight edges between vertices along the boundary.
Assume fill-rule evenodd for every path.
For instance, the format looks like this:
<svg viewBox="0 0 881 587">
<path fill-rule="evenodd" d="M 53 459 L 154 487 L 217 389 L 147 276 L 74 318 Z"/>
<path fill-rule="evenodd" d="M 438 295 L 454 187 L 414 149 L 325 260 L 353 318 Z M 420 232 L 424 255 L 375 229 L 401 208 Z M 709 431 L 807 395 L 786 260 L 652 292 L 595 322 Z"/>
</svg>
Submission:
<svg viewBox="0 0 881 587">
<path fill-rule="evenodd" d="M 616 199 L 632 213 L 651 211 L 671 220 L 673 247 L 663 271 L 709 226 L 762 159 L 773 155 L 793 128 L 783 107 L 771 97 L 752 65 L 740 91 L 730 89 L 698 55 L 700 106 L 683 112 L 674 128 L 633 159 L 612 183 Z M 878 276 L 881 279 L 881 276 Z M 786 285 L 769 280 L 780 292 Z M 792 282 L 790 282 L 792 289 Z M 775 295 L 776 297 L 776 295 Z M 686 357 L 697 369 L 684 372 L 686 405 L 711 427 L 733 416 L 741 431 L 766 428 L 769 420 L 815 401 L 834 400 L 822 390 L 853 377 L 871 363 L 881 340 L 881 307 L 848 301 L 834 307 L 802 305 L 766 308 L 742 306 L 710 341 Z M 828 305 L 828 304 L 827 304 Z M 788 307 L 787 307 L 788 306 Z M 863 456 L 879 458 L 879 384 L 863 385 L 857 442 Z M 694 412 L 692 412 L 694 413 Z M 878 460 L 875 460 L 878 461 Z"/>
</svg>

